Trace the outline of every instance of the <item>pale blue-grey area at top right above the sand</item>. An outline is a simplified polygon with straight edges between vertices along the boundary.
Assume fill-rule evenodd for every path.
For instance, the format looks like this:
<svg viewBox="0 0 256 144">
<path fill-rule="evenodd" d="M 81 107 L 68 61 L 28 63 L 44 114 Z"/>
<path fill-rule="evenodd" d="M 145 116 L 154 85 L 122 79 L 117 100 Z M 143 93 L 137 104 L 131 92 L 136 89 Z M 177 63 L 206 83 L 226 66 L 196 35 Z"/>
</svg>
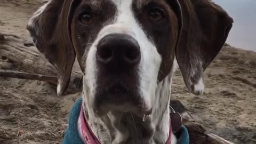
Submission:
<svg viewBox="0 0 256 144">
<path fill-rule="evenodd" d="M 256 52 L 256 0 L 213 0 L 234 19 L 227 43 Z"/>
</svg>

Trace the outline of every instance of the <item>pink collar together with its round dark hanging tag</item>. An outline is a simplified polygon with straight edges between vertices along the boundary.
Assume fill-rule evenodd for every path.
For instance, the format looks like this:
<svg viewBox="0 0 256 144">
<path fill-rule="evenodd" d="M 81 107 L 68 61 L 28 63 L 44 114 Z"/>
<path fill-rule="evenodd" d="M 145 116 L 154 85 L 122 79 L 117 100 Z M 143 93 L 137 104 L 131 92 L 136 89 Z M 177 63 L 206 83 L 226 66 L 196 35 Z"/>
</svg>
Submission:
<svg viewBox="0 0 256 144">
<path fill-rule="evenodd" d="M 80 118 L 80 121 L 81 121 L 81 132 L 82 132 L 83 139 L 86 142 L 86 144 L 100 144 L 98 138 L 93 134 L 93 132 L 91 131 L 89 125 L 87 124 L 87 122 L 84 118 L 83 107 L 81 108 L 79 118 Z M 170 114 L 170 131 L 169 131 L 169 137 L 168 137 L 167 141 L 165 142 L 165 144 L 171 144 L 171 135 L 172 135 L 172 133 L 177 132 L 177 130 L 175 130 L 175 129 L 179 130 L 179 128 L 180 128 L 180 126 L 178 126 L 177 123 L 173 123 L 175 121 L 171 121 L 171 119 L 173 119 L 175 121 L 178 120 L 179 121 L 178 123 L 180 123 L 180 126 L 181 126 L 181 123 L 182 123 L 182 121 L 180 121 L 181 116 L 180 116 L 179 113 L 174 112 L 174 113 Z M 172 130 L 172 125 L 174 126 L 173 130 Z"/>
</svg>

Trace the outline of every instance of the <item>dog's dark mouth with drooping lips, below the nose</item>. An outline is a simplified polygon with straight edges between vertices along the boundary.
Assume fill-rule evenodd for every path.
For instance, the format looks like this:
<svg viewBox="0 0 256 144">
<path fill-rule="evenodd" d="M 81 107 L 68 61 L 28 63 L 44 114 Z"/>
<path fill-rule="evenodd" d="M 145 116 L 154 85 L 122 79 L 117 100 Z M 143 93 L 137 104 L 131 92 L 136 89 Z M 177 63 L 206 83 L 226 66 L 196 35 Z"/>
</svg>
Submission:
<svg viewBox="0 0 256 144">
<path fill-rule="evenodd" d="M 95 112 L 105 115 L 109 111 L 131 112 L 138 117 L 145 118 L 151 115 L 152 109 L 135 86 L 117 83 L 107 87 L 98 88 L 95 95 Z"/>
</svg>

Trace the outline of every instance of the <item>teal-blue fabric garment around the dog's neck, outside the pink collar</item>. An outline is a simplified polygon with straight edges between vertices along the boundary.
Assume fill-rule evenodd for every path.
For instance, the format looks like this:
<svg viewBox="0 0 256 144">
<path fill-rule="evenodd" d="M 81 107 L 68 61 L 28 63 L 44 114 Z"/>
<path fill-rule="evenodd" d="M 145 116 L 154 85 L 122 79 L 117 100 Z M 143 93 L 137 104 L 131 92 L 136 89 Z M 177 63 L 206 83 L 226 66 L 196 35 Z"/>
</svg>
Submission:
<svg viewBox="0 0 256 144">
<path fill-rule="evenodd" d="M 65 138 L 62 144 L 86 144 L 86 143 L 83 143 L 83 140 L 79 135 L 78 127 L 77 127 L 77 121 L 80 115 L 81 106 L 82 106 L 82 98 L 77 100 L 74 107 L 70 111 L 69 124 L 65 132 Z M 188 130 L 186 129 L 185 126 L 182 125 L 180 131 L 175 133 L 175 135 L 178 138 L 179 144 L 189 144 Z"/>
</svg>

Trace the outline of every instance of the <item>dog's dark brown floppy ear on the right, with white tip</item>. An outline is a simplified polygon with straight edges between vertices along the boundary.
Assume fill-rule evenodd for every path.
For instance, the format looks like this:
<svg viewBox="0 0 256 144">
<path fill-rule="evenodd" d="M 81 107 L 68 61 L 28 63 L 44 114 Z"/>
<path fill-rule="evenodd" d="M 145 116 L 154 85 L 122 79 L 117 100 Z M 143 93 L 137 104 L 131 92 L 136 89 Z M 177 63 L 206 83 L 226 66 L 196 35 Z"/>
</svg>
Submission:
<svg viewBox="0 0 256 144">
<path fill-rule="evenodd" d="M 225 44 L 233 19 L 211 0 L 179 4 L 183 25 L 175 55 L 188 90 L 199 95 L 204 91 L 203 72 Z"/>
</svg>

